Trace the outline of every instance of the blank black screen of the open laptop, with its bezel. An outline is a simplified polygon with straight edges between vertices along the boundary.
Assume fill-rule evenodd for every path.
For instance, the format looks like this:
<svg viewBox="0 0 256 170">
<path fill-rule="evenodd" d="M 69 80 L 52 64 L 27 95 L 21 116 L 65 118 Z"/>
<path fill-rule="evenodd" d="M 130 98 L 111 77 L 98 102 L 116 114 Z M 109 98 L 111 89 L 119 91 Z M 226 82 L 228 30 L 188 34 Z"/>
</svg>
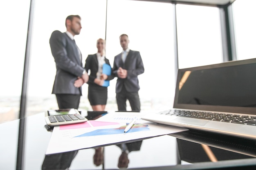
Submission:
<svg viewBox="0 0 256 170">
<path fill-rule="evenodd" d="M 174 108 L 256 114 L 256 59 L 180 69 Z"/>
</svg>

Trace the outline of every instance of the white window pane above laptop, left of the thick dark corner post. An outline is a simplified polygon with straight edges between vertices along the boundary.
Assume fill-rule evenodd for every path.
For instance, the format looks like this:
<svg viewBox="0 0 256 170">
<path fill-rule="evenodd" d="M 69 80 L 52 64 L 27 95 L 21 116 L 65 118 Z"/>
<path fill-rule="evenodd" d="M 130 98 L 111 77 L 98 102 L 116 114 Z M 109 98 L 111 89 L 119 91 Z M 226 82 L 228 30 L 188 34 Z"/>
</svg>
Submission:
<svg viewBox="0 0 256 170">
<path fill-rule="evenodd" d="M 223 62 L 217 7 L 177 4 L 179 68 Z"/>
</svg>

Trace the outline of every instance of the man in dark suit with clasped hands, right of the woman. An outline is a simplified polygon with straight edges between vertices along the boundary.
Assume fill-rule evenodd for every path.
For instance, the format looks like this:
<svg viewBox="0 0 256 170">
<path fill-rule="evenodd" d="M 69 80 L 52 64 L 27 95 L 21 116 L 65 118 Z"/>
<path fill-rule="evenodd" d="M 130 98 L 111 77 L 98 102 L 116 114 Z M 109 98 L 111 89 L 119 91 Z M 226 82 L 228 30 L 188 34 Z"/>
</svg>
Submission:
<svg viewBox="0 0 256 170">
<path fill-rule="evenodd" d="M 126 111 L 126 100 L 132 111 L 140 111 L 138 75 L 144 73 L 144 65 L 139 51 L 128 48 L 128 35 L 119 37 L 122 53 L 115 56 L 112 74 L 117 77 L 116 98 L 119 111 Z"/>
</svg>

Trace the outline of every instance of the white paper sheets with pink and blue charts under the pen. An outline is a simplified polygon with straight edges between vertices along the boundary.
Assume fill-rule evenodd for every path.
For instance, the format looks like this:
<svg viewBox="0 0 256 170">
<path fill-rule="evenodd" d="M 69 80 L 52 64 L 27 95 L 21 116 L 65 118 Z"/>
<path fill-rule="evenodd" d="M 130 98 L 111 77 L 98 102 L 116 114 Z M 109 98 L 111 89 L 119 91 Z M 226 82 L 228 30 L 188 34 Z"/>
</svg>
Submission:
<svg viewBox="0 0 256 170">
<path fill-rule="evenodd" d="M 188 130 L 144 121 L 140 119 L 141 115 L 142 113 L 134 112 L 112 112 L 97 120 L 89 120 L 81 124 L 56 126 L 45 154 L 107 146 Z M 128 132 L 124 133 L 126 125 L 134 118 L 137 119 L 136 123 Z"/>
</svg>

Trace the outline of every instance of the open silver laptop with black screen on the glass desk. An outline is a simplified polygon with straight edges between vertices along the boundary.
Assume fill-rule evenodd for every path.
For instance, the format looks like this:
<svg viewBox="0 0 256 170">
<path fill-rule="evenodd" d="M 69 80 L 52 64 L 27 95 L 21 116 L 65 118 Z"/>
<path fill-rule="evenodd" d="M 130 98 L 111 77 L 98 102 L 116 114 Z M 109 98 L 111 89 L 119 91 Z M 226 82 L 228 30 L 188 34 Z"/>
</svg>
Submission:
<svg viewBox="0 0 256 170">
<path fill-rule="evenodd" d="M 256 59 L 179 69 L 172 109 L 141 119 L 256 139 Z"/>
</svg>

